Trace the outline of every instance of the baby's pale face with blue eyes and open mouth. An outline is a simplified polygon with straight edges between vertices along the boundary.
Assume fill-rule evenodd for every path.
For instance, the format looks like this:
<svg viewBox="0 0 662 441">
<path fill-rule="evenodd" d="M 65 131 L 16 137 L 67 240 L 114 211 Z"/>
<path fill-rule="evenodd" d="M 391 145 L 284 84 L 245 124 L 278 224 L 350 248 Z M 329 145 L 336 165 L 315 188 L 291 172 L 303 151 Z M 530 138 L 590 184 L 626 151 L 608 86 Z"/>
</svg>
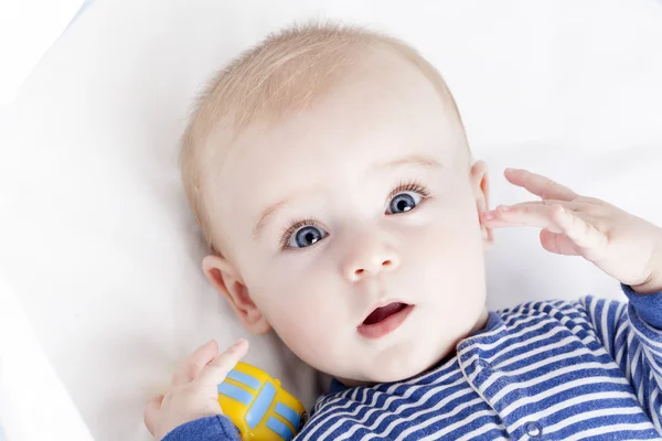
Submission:
<svg viewBox="0 0 662 441">
<path fill-rule="evenodd" d="M 210 195 L 244 319 L 346 383 L 418 374 L 487 319 L 482 165 L 415 67 L 371 66 L 242 136 Z"/>
</svg>

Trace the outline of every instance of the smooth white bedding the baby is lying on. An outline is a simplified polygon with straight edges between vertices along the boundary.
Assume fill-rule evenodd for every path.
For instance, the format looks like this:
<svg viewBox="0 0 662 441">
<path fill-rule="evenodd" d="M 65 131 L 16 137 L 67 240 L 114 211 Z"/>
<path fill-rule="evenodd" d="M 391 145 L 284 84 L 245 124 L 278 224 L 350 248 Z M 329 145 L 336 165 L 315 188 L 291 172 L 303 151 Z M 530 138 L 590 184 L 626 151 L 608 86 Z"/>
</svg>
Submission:
<svg viewBox="0 0 662 441">
<path fill-rule="evenodd" d="M 206 283 L 177 168 L 213 71 L 293 19 L 343 18 L 410 42 L 452 89 L 494 203 L 527 166 L 662 223 L 662 8 L 632 0 L 96 1 L 25 83 L 0 154 L 0 269 L 97 440 L 147 439 L 145 399 L 207 338 L 245 333 Z M 498 234 L 489 304 L 619 295 L 537 232 Z M 275 337 L 249 363 L 310 404 L 311 369 Z"/>
</svg>

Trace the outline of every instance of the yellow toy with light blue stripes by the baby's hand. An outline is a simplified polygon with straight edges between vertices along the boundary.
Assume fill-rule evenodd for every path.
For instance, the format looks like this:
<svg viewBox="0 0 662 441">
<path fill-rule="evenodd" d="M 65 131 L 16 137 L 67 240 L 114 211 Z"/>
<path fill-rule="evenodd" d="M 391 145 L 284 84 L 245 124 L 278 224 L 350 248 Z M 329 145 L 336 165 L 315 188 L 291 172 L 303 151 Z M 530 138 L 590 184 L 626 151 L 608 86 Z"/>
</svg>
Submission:
<svg viewBox="0 0 662 441">
<path fill-rule="evenodd" d="M 218 385 L 218 404 L 244 441 L 289 441 L 308 420 L 303 405 L 279 380 L 243 362 Z"/>
</svg>

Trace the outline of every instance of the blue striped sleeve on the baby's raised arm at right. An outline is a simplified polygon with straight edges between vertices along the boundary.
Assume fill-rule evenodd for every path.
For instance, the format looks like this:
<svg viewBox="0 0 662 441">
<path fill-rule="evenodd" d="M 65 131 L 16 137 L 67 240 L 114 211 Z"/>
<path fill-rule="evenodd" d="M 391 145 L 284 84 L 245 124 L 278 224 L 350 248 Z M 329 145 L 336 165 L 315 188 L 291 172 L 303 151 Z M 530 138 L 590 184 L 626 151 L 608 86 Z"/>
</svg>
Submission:
<svg viewBox="0 0 662 441">
<path fill-rule="evenodd" d="M 624 373 L 656 428 L 662 427 L 662 292 L 639 294 L 622 287 L 628 302 L 583 298 L 596 336 Z"/>
</svg>

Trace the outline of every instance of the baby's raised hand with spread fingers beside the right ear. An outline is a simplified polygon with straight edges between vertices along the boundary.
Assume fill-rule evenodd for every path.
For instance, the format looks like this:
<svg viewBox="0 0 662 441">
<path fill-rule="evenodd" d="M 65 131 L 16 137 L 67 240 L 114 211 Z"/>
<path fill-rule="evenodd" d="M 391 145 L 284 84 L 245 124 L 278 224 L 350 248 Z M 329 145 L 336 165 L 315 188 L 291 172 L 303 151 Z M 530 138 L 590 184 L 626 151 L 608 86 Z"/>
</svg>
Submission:
<svg viewBox="0 0 662 441">
<path fill-rule="evenodd" d="M 542 201 L 485 212 L 487 227 L 543 228 L 546 250 L 583 256 L 637 292 L 662 290 L 662 228 L 525 170 L 506 169 L 505 178 Z"/>
</svg>

